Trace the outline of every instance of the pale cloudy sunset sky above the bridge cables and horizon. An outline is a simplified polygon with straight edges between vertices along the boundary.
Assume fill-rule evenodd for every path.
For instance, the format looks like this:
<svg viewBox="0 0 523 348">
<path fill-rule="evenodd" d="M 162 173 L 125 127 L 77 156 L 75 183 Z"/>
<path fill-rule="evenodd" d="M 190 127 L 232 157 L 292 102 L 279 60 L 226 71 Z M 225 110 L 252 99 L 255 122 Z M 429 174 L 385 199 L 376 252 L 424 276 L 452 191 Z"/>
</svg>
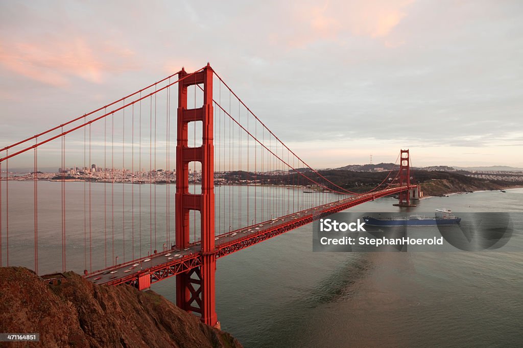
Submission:
<svg viewBox="0 0 523 348">
<path fill-rule="evenodd" d="M 312 167 L 523 167 L 521 32 L 519 0 L 0 0 L 0 146 L 210 62 Z"/>
</svg>

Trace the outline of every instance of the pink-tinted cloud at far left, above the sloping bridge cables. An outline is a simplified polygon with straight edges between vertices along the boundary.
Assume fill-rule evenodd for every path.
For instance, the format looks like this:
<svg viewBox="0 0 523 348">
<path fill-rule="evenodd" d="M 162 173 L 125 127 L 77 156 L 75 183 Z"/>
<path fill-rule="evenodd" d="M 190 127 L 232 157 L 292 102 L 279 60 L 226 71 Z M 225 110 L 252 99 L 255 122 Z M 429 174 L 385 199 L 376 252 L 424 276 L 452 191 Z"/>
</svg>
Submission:
<svg viewBox="0 0 523 348">
<path fill-rule="evenodd" d="M 134 56 L 131 50 L 110 43 L 89 44 L 82 38 L 0 42 L 0 65 L 16 74 L 44 84 L 65 87 L 72 78 L 102 83 L 109 73 L 135 69 L 136 64 L 121 63 Z M 124 62 L 126 60 L 123 60 Z"/>
</svg>

